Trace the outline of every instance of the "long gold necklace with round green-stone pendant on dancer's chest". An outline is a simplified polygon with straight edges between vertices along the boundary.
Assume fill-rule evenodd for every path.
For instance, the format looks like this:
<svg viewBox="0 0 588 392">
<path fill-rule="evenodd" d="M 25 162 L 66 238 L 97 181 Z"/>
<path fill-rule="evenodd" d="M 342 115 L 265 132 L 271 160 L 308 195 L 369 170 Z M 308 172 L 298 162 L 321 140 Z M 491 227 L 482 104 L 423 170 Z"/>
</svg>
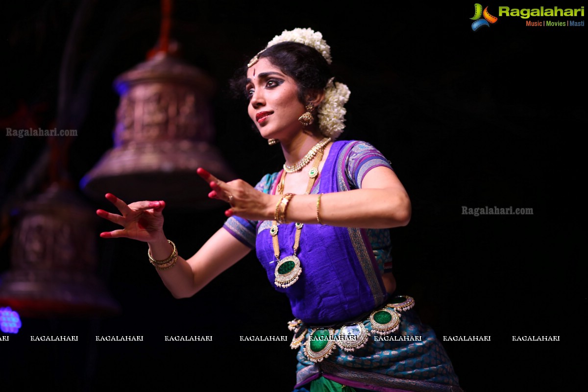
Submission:
<svg viewBox="0 0 588 392">
<path fill-rule="evenodd" d="M 312 167 L 308 172 L 308 185 L 306 186 L 305 195 L 310 193 L 312 186 L 315 184 L 316 177 L 319 175 L 319 164 L 323 158 L 323 152 L 325 150 L 325 145 L 322 146 L 317 152 L 315 156 L 315 160 L 312 163 Z M 279 195 L 283 195 L 284 191 L 284 180 L 286 179 L 286 170 L 282 172 L 282 177 L 280 177 L 280 183 L 278 184 L 278 193 Z M 286 256 L 283 259 L 280 259 L 280 244 L 278 243 L 278 222 L 275 220 L 273 221 L 272 228 L 270 229 L 270 234 L 272 234 L 272 242 L 273 242 L 273 254 L 276 256 L 276 260 L 278 264 L 276 265 L 276 269 L 274 271 L 274 275 L 276 277 L 275 281 L 273 282 L 278 287 L 289 287 L 292 284 L 298 281 L 298 277 L 302 273 L 302 266 L 300 265 L 300 259 L 296 256 L 296 252 L 298 252 L 298 247 L 300 244 L 300 233 L 302 232 L 302 227 L 304 226 L 303 223 L 295 223 L 296 225 L 296 236 L 294 240 L 294 254 L 292 256 Z"/>
</svg>

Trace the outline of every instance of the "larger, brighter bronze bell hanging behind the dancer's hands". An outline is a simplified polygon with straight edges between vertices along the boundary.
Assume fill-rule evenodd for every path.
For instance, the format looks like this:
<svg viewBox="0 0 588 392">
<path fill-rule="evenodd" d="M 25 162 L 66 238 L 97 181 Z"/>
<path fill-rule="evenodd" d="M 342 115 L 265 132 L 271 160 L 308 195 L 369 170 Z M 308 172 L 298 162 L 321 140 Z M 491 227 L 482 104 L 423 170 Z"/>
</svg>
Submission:
<svg viewBox="0 0 588 392">
<path fill-rule="evenodd" d="M 83 177 L 82 190 L 100 200 L 107 192 L 127 203 L 165 200 L 168 209 L 219 205 L 196 174 L 204 167 L 219 179 L 234 178 L 211 145 L 212 79 L 168 52 L 157 52 L 122 73 L 114 86 L 121 96 L 114 148 Z"/>
</svg>

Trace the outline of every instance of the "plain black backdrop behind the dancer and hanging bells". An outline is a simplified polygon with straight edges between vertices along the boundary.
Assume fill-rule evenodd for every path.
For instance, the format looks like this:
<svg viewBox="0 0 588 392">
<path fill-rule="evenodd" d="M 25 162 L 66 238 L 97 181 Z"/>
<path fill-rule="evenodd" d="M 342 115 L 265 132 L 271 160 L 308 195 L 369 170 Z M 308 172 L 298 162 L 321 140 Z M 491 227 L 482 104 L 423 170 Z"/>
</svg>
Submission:
<svg viewBox="0 0 588 392">
<path fill-rule="evenodd" d="M 76 112 L 78 136 L 68 150 L 75 183 L 112 147 L 119 98 L 112 82 L 145 60 L 161 19 L 158 1 L 88 4 L 92 17 L 76 36 L 83 45 L 73 69 L 74 81 L 85 71 L 92 75 L 81 90 L 88 110 Z M 497 16 L 499 5 L 490 4 L 490 13 Z M 509 4 L 540 5 L 553 6 Z M 78 6 L 2 5 L 3 128 L 21 128 L 11 125 L 25 108 L 24 117 L 37 127 L 55 125 L 59 68 Z M 557 6 L 579 8 L 580 2 Z M 526 27 L 524 19 L 499 17 L 473 32 L 472 15 L 473 3 L 467 2 L 433 8 L 184 0 L 174 5 L 172 38 L 181 43 L 186 62 L 215 79 L 214 143 L 240 178 L 256 183 L 283 158 L 253 132 L 245 104 L 229 97 L 227 81 L 284 29 L 322 32 L 335 75 L 351 91 L 341 139 L 379 148 L 413 203 L 410 224 L 391 231 L 398 292 L 415 297 L 437 336 L 492 336 L 490 342 L 443 342 L 466 391 L 546 391 L 579 377 L 570 356 L 586 349 L 579 321 L 586 316 L 586 295 L 579 293 L 585 269 L 577 246 L 585 238 L 580 135 L 587 125 L 586 71 L 580 53 L 586 28 Z M 46 148 L 44 139 L 2 136 L 4 208 Z M 112 210 L 105 201 L 86 201 L 93 209 Z M 474 217 L 462 215 L 462 206 L 531 207 L 533 215 Z M 166 235 L 182 256 L 190 256 L 222 225 L 222 212 L 168 206 Z M 272 289 L 254 254 L 195 297 L 176 300 L 149 265 L 145 244 L 98 237 L 112 226 L 96 226 L 98 274 L 122 313 L 93 320 L 24 318 L 19 333 L 0 342 L 3 386 L 8 380 L 26 389 L 42 380 L 60 390 L 104 390 L 113 383 L 198 390 L 211 378 L 219 390 L 291 390 L 296 360 L 288 343 L 238 339 L 290 339 L 288 301 Z M 11 266 L 11 242 L 8 237 L 0 247 L 0 272 Z M 80 341 L 29 341 L 41 334 L 74 334 Z M 145 341 L 106 344 L 92 341 L 95 335 L 142 335 Z M 165 335 L 215 340 L 165 342 Z M 515 342 L 513 335 L 561 340 Z"/>
</svg>

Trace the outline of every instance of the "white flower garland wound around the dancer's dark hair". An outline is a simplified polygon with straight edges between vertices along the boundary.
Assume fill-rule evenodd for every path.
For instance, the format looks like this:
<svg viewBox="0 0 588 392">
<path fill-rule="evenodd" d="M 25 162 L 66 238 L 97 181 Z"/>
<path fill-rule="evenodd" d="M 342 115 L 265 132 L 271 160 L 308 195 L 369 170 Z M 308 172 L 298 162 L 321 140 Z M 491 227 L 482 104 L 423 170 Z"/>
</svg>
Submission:
<svg viewBox="0 0 588 392">
<path fill-rule="evenodd" d="M 268 42 L 266 49 L 276 45 L 276 43 L 290 41 L 315 48 L 323 55 L 328 64 L 333 61 L 330 55 L 330 46 L 323 39 L 322 33 L 315 32 L 312 29 L 284 30 L 282 34 L 276 35 L 272 41 Z M 251 64 L 256 62 L 256 58 L 260 53 L 252 59 Z M 323 135 L 336 139 L 343 132 L 345 128 L 343 122 L 345 122 L 345 113 L 347 112 L 343 105 L 349 100 L 349 94 L 348 86 L 339 82 L 333 83 L 333 78 L 325 86 L 325 99 L 318 108 L 319 129 Z"/>
</svg>

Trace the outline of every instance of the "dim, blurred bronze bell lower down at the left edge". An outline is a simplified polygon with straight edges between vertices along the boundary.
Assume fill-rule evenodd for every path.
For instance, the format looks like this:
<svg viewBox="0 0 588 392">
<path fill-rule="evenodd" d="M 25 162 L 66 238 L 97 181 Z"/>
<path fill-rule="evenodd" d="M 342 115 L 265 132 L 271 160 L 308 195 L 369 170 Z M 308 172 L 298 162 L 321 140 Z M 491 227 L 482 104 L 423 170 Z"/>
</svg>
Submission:
<svg viewBox="0 0 588 392">
<path fill-rule="evenodd" d="M 26 317 L 111 316 L 121 309 L 95 276 L 98 219 L 73 190 L 54 183 L 19 205 L 12 267 L 0 306 Z"/>
</svg>

